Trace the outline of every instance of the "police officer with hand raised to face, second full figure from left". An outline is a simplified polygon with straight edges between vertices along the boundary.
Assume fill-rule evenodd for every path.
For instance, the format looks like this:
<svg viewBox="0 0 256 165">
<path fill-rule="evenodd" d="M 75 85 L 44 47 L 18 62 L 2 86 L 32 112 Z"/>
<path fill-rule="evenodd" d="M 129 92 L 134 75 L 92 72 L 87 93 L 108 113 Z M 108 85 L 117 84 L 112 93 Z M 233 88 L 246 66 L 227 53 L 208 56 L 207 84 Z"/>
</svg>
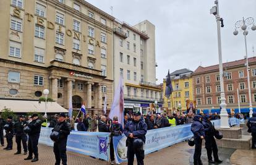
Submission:
<svg viewBox="0 0 256 165">
<path fill-rule="evenodd" d="M 38 114 L 33 114 L 32 122 L 28 123 L 30 132 L 28 133 L 28 157 L 24 160 L 32 159 L 32 162 L 38 161 L 38 140 L 41 132 L 41 120 L 38 119 Z M 33 154 L 35 157 L 33 158 Z"/>
</svg>

